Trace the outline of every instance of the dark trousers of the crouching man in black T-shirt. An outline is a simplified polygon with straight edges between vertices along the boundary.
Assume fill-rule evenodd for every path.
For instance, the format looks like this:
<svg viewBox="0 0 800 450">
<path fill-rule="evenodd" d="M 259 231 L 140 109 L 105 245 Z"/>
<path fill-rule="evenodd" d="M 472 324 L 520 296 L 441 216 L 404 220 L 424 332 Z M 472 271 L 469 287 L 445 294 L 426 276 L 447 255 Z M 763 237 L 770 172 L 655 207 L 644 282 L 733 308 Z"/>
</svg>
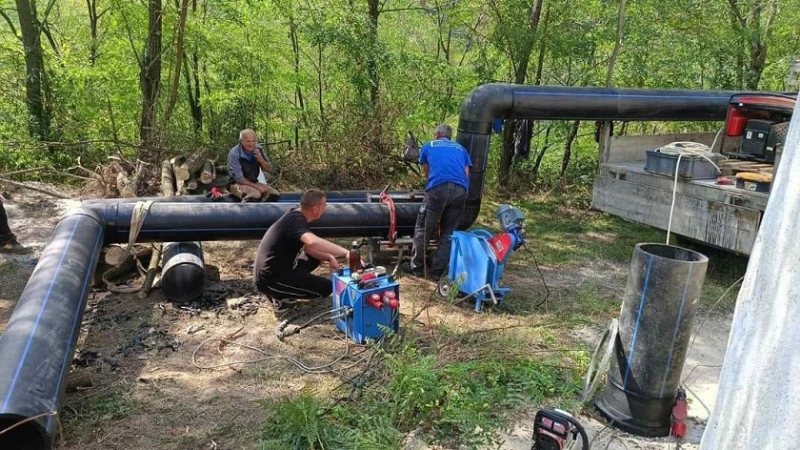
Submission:
<svg viewBox="0 0 800 450">
<path fill-rule="evenodd" d="M 315 299 L 331 295 L 333 283 L 330 278 L 313 275 L 320 261 L 301 253 L 292 270 L 256 280 L 259 291 L 274 300 L 287 298 Z"/>
</svg>

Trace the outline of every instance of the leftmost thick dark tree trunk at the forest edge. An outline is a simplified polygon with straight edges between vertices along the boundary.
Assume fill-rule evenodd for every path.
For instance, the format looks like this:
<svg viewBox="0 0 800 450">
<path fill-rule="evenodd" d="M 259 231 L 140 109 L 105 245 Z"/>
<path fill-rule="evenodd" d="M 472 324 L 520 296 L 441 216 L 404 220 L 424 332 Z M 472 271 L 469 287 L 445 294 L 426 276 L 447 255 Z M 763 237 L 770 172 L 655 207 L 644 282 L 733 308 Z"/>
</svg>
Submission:
<svg viewBox="0 0 800 450">
<path fill-rule="evenodd" d="M 50 106 L 40 39 L 41 28 L 33 0 L 16 0 L 22 46 L 25 50 L 25 96 L 28 104 L 28 133 L 42 141 L 50 139 Z"/>
</svg>

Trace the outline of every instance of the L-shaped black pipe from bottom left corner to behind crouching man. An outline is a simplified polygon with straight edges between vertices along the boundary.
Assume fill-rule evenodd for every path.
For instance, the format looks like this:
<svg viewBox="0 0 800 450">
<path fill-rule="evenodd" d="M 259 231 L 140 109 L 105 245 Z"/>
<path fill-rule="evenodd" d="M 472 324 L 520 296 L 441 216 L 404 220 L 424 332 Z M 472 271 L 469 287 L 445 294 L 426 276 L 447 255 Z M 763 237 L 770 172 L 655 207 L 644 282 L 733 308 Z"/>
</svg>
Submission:
<svg viewBox="0 0 800 450">
<path fill-rule="evenodd" d="M 296 205 L 276 203 L 154 203 L 139 242 L 237 240 L 263 236 Z M 103 202 L 63 218 L 55 227 L 0 337 L 0 449 L 53 446 L 64 380 L 104 243 L 127 242 L 134 203 Z M 419 211 L 396 205 L 397 232 L 411 234 Z M 388 236 L 389 208 L 382 203 L 328 205 L 311 231 L 326 237 Z M 32 419 L 36 417 L 36 419 Z"/>
</svg>

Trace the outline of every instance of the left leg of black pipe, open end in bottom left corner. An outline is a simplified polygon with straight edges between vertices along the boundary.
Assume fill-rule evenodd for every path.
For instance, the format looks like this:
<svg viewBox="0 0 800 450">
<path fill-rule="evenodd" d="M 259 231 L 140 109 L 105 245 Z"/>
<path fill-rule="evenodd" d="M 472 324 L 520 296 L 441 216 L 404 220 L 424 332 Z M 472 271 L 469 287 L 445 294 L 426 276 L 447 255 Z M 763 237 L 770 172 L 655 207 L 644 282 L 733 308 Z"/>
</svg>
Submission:
<svg viewBox="0 0 800 450">
<path fill-rule="evenodd" d="M 4 450 L 48 449 L 80 332 L 104 224 L 82 210 L 53 231 L 0 337 L 0 434 Z M 50 414 L 50 415 L 48 415 Z"/>
</svg>

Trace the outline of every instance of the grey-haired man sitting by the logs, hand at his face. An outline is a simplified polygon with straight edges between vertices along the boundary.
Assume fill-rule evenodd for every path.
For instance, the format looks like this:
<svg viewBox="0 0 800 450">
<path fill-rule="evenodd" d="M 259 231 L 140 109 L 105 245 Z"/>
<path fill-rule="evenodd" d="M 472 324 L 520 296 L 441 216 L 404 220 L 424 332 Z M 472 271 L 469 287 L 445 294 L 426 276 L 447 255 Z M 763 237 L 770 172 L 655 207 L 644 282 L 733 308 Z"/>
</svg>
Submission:
<svg viewBox="0 0 800 450">
<path fill-rule="evenodd" d="M 264 149 L 256 143 L 256 133 L 244 129 L 239 133 L 239 143 L 228 153 L 228 173 L 230 174 L 230 191 L 243 201 L 262 200 L 277 201 L 280 192 L 265 183 L 258 182 L 260 171 L 265 174 L 272 165 L 264 153 Z"/>
</svg>

